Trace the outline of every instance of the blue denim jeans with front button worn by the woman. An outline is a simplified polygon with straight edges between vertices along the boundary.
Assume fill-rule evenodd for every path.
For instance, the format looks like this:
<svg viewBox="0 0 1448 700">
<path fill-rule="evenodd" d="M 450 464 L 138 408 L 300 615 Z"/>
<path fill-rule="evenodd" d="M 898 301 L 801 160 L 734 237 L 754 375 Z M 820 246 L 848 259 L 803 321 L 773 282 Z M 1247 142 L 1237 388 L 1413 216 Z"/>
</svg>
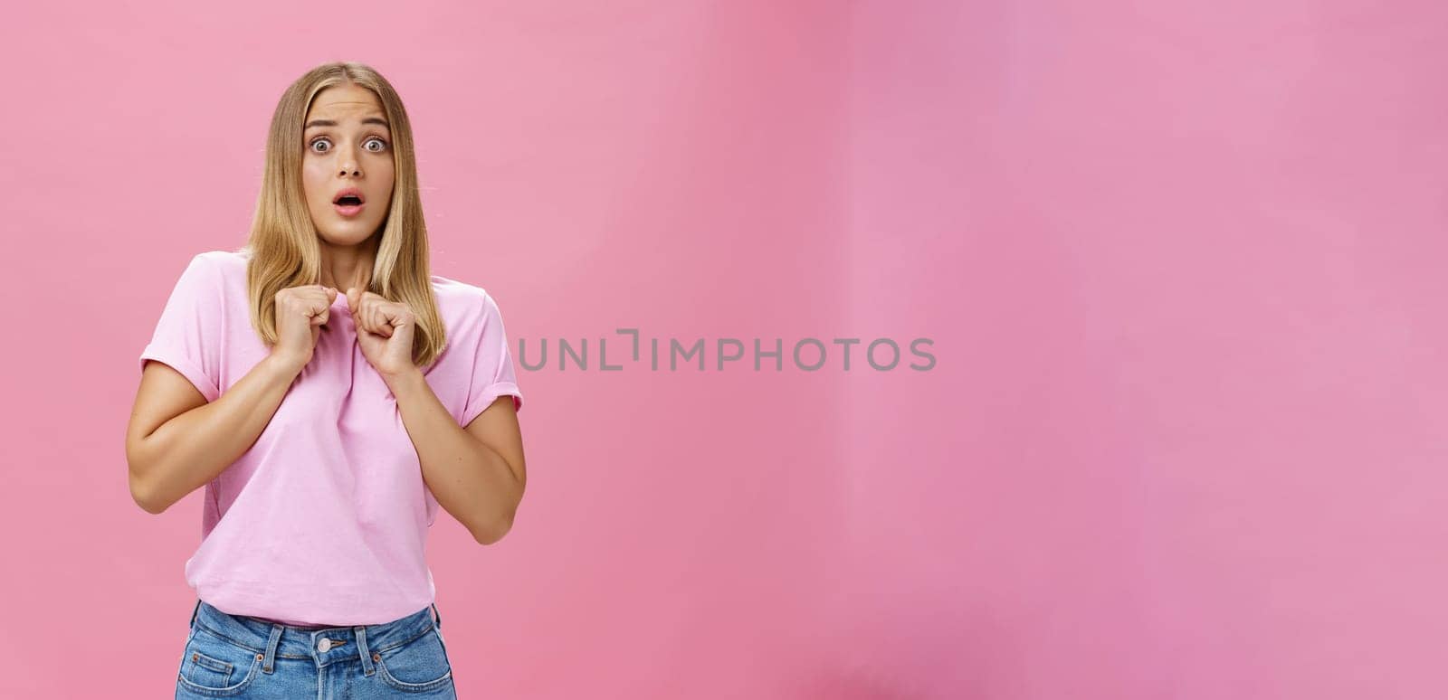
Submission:
<svg viewBox="0 0 1448 700">
<path fill-rule="evenodd" d="M 456 699 L 432 605 L 381 625 L 300 628 L 197 600 L 177 699 Z"/>
</svg>

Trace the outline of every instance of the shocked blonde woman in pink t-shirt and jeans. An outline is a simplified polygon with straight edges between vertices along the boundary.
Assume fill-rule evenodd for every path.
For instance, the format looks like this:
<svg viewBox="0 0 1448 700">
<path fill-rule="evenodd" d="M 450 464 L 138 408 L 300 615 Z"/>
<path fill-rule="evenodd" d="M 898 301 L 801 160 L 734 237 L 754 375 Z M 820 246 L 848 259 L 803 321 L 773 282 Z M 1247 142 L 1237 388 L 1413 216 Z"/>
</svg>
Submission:
<svg viewBox="0 0 1448 700">
<path fill-rule="evenodd" d="M 388 81 L 307 72 L 246 246 L 191 259 L 140 354 L 132 496 L 206 486 L 177 697 L 455 696 L 427 528 L 511 528 L 523 395 L 492 296 L 430 275 L 417 192 Z"/>
</svg>

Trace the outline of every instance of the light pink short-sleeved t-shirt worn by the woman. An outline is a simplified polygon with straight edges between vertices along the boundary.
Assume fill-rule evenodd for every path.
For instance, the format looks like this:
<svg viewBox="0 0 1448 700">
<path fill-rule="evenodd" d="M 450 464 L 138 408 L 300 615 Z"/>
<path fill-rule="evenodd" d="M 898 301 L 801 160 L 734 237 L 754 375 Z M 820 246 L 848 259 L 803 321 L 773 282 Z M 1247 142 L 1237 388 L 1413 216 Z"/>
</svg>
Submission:
<svg viewBox="0 0 1448 700">
<path fill-rule="evenodd" d="M 191 259 L 140 353 L 216 401 L 269 353 L 248 318 L 246 253 Z M 494 399 L 523 408 L 498 305 L 432 276 L 447 347 L 427 385 L 458 425 Z M 397 399 L 362 356 L 339 294 L 311 362 L 256 443 L 206 485 L 185 564 L 201 600 L 291 625 L 376 625 L 434 602 L 423 550 L 437 518 Z"/>
</svg>

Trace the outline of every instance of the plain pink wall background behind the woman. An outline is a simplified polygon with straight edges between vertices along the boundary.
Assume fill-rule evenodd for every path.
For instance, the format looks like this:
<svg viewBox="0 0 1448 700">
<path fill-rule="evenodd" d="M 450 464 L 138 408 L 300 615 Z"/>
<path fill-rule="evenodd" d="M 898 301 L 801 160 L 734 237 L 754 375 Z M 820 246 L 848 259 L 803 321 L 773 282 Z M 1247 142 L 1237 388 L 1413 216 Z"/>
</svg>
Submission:
<svg viewBox="0 0 1448 700">
<path fill-rule="evenodd" d="M 0 696 L 169 697 L 200 493 L 130 502 L 135 359 L 339 58 L 514 341 L 934 340 L 520 367 L 514 531 L 429 544 L 460 697 L 1441 696 L 1436 4 L 12 14 Z"/>
</svg>

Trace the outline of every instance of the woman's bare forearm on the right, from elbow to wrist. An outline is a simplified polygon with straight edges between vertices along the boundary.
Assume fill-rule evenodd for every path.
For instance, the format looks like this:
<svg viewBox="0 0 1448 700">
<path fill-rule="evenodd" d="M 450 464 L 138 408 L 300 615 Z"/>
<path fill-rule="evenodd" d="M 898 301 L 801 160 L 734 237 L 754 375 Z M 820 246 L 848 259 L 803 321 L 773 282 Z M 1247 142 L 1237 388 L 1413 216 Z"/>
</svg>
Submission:
<svg viewBox="0 0 1448 700">
<path fill-rule="evenodd" d="M 523 483 L 497 450 L 472 437 L 442 405 L 420 370 L 385 377 L 437 505 L 481 544 L 513 526 Z"/>
</svg>

